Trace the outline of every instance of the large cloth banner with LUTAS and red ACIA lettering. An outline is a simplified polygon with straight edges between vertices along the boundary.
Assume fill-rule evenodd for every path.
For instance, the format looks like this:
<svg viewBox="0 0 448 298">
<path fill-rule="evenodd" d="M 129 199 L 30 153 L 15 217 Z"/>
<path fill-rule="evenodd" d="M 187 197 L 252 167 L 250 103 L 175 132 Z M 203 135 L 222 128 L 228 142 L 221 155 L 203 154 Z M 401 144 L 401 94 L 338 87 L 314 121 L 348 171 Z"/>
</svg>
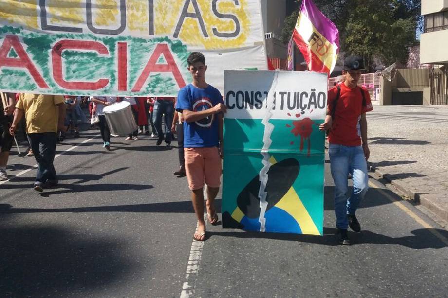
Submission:
<svg viewBox="0 0 448 298">
<path fill-rule="evenodd" d="M 174 96 L 205 54 L 224 69 L 266 70 L 256 0 L 1 0 L 0 89 L 41 94 Z"/>
</svg>

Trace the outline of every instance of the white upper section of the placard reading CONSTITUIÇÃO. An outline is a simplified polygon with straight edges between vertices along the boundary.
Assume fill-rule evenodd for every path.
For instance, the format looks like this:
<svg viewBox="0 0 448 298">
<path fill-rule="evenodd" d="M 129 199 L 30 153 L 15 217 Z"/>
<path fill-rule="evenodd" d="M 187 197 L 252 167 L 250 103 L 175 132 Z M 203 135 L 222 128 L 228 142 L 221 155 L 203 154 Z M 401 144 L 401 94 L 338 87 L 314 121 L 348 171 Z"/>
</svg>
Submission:
<svg viewBox="0 0 448 298">
<path fill-rule="evenodd" d="M 303 71 L 225 71 L 225 118 L 324 119 L 327 75 Z M 270 105 L 272 105 L 270 107 Z"/>
</svg>

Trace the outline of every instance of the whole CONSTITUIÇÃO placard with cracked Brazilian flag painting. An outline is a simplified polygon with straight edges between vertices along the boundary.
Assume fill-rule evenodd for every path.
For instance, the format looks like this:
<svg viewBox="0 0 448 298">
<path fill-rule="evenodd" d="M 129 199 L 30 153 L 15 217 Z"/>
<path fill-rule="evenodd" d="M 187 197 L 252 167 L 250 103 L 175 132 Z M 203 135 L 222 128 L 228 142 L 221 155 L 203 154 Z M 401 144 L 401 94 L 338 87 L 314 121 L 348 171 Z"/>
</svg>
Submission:
<svg viewBox="0 0 448 298">
<path fill-rule="evenodd" d="M 322 235 L 327 75 L 224 73 L 223 228 Z"/>
</svg>

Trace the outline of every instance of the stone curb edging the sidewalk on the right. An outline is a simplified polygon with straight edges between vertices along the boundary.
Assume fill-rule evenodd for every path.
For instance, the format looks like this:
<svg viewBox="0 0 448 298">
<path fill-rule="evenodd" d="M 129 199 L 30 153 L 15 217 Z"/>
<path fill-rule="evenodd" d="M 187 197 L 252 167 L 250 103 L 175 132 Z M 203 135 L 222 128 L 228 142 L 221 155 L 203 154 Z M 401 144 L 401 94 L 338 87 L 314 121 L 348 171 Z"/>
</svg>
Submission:
<svg viewBox="0 0 448 298">
<path fill-rule="evenodd" d="M 370 172 L 375 173 L 380 178 L 386 180 L 388 183 L 392 184 L 397 190 L 399 195 L 405 195 L 406 197 L 409 197 L 411 201 L 413 201 L 416 204 L 422 205 L 426 207 L 428 210 L 433 212 L 436 216 L 440 217 L 441 219 L 448 221 L 448 210 L 442 208 L 434 202 L 433 199 L 429 199 L 427 195 L 417 193 L 416 191 L 412 190 L 411 185 L 409 185 L 406 182 L 403 182 L 397 178 L 395 178 L 394 175 L 384 173 L 382 170 L 375 168 L 372 165 L 369 165 L 368 168 Z"/>
</svg>

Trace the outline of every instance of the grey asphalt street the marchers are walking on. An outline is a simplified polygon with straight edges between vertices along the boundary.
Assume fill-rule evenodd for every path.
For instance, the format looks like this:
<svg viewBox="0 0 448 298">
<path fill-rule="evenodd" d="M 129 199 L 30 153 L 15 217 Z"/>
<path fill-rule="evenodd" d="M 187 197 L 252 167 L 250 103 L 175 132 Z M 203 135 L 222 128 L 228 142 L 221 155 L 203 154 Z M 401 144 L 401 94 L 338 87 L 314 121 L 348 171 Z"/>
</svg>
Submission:
<svg viewBox="0 0 448 298">
<path fill-rule="evenodd" d="M 198 244 L 177 149 L 145 136 L 112 138 L 106 152 L 98 134 L 57 146 L 60 185 L 43 193 L 34 158 L 14 149 L 19 176 L 0 184 L 0 297 L 447 297 L 448 232 L 373 179 L 352 246 L 336 243 L 328 163 L 324 236 L 207 226 Z"/>
</svg>

